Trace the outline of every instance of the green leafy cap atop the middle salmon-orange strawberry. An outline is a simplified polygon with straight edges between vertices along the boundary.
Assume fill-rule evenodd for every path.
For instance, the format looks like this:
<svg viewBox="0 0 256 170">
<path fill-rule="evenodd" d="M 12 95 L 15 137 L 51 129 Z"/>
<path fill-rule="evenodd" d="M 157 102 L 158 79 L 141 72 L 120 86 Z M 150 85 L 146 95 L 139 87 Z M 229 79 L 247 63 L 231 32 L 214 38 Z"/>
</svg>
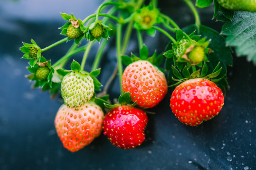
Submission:
<svg viewBox="0 0 256 170">
<path fill-rule="evenodd" d="M 153 64 L 154 66 L 157 67 L 162 63 L 163 59 L 164 59 L 164 55 L 162 53 L 157 55 L 156 51 L 154 52 L 154 54 L 152 56 L 149 57 L 148 49 L 145 44 L 142 46 L 142 48 L 139 51 L 139 57 L 137 57 L 133 53 L 131 53 L 131 57 L 126 56 L 126 55 L 122 56 L 122 61 L 126 66 L 128 66 L 129 64 L 131 64 L 135 61 L 138 61 L 138 60 L 147 60 L 151 64 Z M 161 68 L 159 68 L 159 69 L 161 70 Z M 161 71 L 164 72 L 164 70 L 161 70 Z"/>
</svg>

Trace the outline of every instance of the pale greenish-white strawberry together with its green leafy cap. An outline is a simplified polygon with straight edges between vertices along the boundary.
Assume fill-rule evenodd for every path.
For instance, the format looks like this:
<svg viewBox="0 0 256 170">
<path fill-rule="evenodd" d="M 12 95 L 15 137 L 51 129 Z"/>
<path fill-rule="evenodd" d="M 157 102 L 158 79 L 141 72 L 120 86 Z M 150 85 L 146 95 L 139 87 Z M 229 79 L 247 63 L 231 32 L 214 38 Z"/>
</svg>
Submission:
<svg viewBox="0 0 256 170">
<path fill-rule="evenodd" d="M 78 62 L 73 60 L 71 70 L 57 69 L 64 76 L 61 82 L 61 95 L 68 107 L 81 107 L 88 102 L 95 90 L 100 90 L 101 83 L 94 77 L 100 74 L 100 69 L 87 73 L 81 70 Z"/>
</svg>

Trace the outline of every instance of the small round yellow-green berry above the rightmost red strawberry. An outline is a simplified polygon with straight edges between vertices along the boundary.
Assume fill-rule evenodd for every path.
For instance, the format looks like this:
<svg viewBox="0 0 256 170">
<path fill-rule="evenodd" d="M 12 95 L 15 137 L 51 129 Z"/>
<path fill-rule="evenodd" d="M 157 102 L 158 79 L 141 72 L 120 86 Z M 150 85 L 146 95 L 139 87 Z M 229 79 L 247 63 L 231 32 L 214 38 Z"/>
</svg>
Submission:
<svg viewBox="0 0 256 170">
<path fill-rule="evenodd" d="M 195 48 L 188 54 L 192 64 L 199 64 L 204 59 L 204 48 L 201 46 L 195 46 Z"/>
</svg>

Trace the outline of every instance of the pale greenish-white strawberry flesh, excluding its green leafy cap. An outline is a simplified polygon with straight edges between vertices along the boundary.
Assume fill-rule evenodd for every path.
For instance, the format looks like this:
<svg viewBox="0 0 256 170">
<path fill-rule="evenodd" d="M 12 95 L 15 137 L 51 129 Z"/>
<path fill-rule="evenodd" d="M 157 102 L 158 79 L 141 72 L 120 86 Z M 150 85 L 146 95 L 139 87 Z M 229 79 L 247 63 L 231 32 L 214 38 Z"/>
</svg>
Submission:
<svg viewBox="0 0 256 170">
<path fill-rule="evenodd" d="M 61 95 L 67 106 L 79 107 L 89 101 L 94 93 L 93 79 L 80 71 L 72 71 L 63 77 Z"/>
</svg>

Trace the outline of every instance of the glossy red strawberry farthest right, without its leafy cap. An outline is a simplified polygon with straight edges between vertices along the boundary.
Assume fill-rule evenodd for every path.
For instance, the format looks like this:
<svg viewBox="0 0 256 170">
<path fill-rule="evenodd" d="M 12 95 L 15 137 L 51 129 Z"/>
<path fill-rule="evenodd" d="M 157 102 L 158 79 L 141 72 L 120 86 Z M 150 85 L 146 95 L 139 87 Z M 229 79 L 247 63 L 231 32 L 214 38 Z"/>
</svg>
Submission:
<svg viewBox="0 0 256 170">
<path fill-rule="evenodd" d="M 170 106 L 175 116 L 186 125 L 196 126 L 219 114 L 224 96 L 217 85 L 208 79 L 190 79 L 178 85 Z"/>
</svg>

